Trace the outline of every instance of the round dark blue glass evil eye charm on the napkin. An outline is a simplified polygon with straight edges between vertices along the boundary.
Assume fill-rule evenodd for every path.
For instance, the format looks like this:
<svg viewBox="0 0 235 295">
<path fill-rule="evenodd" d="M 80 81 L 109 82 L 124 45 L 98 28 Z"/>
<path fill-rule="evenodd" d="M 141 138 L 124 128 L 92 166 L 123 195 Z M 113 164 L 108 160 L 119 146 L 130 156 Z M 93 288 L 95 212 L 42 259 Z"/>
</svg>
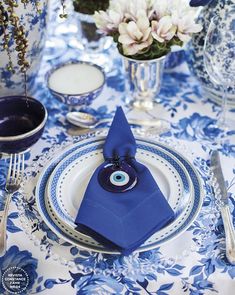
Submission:
<svg viewBox="0 0 235 295">
<path fill-rule="evenodd" d="M 122 161 L 105 165 L 98 174 L 98 180 L 105 190 L 123 193 L 136 185 L 137 175 L 134 168 Z"/>
</svg>

